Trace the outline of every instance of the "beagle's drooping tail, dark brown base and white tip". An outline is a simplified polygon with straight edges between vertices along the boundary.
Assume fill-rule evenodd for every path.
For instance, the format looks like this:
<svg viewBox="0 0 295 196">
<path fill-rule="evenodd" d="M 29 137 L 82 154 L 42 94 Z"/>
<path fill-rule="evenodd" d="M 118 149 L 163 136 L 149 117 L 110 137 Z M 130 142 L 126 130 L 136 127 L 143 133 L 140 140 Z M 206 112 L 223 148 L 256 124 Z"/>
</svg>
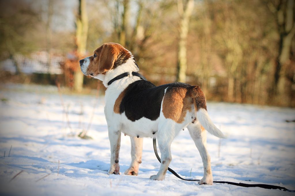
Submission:
<svg viewBox="0 0 295 196">
<path fill-rule="evenodd" d="M 189 89 L 191 97 L 194 99 L 194 107 L 197 112 L 197 120 L 212 135 L 220 138 L 226 138 L 225 135 L 211 121 L 206 105 L 206 98 L 199 86 L 192 86 Z"/>
</svg>

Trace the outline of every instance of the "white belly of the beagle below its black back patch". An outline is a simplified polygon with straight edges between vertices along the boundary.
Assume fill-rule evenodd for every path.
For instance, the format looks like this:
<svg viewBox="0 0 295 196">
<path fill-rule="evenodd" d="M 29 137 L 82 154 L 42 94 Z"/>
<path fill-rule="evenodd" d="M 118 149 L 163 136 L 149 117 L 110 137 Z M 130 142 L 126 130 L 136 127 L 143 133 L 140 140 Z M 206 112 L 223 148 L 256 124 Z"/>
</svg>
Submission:
<svg viewBox="0 0 295 196">
<path fill-rule="evenodd" d="M 121 117 L 121 132 L 131 137 L 154 137 L 158 131 L 159 118 L 150 120 L 145 117 L 136 121 L 127 119 L 125 114 Z"/>
</svg>

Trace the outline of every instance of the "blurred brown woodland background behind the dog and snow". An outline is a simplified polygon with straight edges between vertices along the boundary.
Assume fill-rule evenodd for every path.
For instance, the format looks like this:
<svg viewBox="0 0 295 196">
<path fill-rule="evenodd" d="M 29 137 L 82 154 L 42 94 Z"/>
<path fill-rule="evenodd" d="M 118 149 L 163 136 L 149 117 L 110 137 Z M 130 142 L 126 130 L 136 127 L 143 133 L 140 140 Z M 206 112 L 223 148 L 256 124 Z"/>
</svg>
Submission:
<svg viewBox="0 0 295 196">
<path fill-rule="evenodd" d="M 294 9 L 294 0 L 1 0 L 1 82 L 96 88 L 78 60 L 117 42 L 155 85 L 295 107 Z"/>
</svg>

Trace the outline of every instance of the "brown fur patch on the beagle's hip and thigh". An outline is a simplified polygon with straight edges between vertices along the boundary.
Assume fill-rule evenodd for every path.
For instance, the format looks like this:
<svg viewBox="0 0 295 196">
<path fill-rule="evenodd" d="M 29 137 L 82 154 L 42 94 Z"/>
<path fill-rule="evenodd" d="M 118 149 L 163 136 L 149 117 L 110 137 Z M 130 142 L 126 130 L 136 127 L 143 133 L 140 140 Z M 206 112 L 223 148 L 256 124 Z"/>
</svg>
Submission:
<svg viewBox="0 0 295 196">
<path fill-rule="evenodd" d="M 191 111 L 193 98 L 187 88 L 168 89 L 163 100 L 163 114 L 177 123 L 182 123 L 187 110 Z"/>
</svg>

